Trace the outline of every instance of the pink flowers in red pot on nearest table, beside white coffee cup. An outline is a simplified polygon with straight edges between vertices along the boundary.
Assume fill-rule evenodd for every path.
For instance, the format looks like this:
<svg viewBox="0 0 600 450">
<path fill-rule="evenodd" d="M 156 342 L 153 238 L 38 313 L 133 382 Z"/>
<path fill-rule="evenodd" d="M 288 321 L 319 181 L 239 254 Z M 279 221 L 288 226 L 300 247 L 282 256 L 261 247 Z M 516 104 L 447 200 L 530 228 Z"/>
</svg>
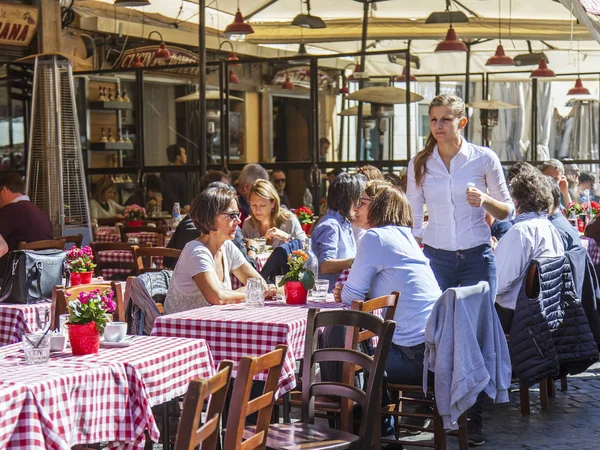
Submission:
<svg viewBox="0 0 600 450">
<path fill-rule="evenodd" d="M 77 299 L 69 302 L 67 329 L 74 355 L 98 353 L 100 335 L 116 308 L 111 289 L 80 292 Z"/>
</svg>

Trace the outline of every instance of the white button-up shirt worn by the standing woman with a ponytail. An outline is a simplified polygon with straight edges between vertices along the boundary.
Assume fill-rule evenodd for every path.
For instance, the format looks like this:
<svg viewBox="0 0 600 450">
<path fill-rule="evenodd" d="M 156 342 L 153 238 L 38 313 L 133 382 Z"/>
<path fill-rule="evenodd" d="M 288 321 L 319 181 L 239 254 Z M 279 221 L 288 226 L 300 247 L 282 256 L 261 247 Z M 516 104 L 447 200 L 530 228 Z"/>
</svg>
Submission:
<svg viewBox="0 0 600 450">
<path fill-rule="evenodd" d="M 491 240 L 490 227 L 485 222 L 485 209 L 467 203 L 467 187 L 474 187 L 495 200 L 509 203 L 514 217 L 514 205 L 502 172 L 498 156 L 489 148 L 479 147 L 463 138 L 458 153 L 446 169 L 437 145 L 427 159 L 422 183 L 415 183 L 414 158 L 408 164 L 407 195 L 414 215 L 413 235 L 423 244 L 440 250 L 467 250 Z M 427 205 L 429 223 L 423 229 L 423 206 Z"/>
</svg>

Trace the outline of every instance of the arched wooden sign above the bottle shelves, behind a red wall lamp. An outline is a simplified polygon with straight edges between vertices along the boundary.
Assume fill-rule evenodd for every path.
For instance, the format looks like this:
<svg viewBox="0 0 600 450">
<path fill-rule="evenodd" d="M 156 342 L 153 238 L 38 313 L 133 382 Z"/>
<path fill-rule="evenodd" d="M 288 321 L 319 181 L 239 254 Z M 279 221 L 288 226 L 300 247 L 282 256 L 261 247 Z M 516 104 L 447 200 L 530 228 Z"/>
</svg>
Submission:
<svg viewBox="0 0 600 450">
<path fill-rule="evenodd" d="M 117 61 L 115 66 L 116 69 L 130 68 L 133 66 L 135 57 L 139 57 L 144 67 L 168 67 L 179 64 L 196 64 L 196 67 L 186 67 L 177 69 L 163 69 L 165 72 L 176 73 L 179 75 L 198 76 L 198 55 L 185 50 L 183 48 L 174 47 L 167 45 L 169 52 L 171 53 L 171 59 L 161 60 L 156 59 L 154 54 L 158 49 L 158 45 L 150 45 L 146 47 L 138 47 L 123 52 L 121 59 Z"/>
</svg>

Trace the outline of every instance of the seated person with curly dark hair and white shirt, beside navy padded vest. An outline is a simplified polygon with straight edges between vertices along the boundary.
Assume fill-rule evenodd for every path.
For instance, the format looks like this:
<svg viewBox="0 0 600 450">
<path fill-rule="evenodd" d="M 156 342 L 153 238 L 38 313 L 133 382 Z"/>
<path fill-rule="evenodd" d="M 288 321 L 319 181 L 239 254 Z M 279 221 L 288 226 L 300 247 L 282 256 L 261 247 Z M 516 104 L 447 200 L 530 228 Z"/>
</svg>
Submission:
<svg viewBox="0 0 600 450">
<path fill-rule="evenodd" d="M 560 234 L 547 218 L 553 198 L 544 176 L 521 173 L 510 181 L 510 193 L 517 217 L 498 241 L 495 251 L 498 268 L 496 311 L 506 332 L 512 325 L 517 297 L 531 261 L 564 255 Z"/>
</svg>

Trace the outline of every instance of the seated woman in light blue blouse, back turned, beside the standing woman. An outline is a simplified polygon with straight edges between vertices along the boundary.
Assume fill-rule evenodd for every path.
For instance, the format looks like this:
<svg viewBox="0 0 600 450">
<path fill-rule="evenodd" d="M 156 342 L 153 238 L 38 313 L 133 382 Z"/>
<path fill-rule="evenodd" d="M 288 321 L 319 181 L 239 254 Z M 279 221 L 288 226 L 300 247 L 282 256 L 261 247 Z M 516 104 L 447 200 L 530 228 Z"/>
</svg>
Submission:
<svg viewBox="0 0 600 450">
<path fill-rule="evenodd" d="M 400 292 L 386 372 L 391 383 L 420 384 L 425 325 L 442 292 L 429 260 L 412 235 L 410 203 L 399 188 L 370 182 L 354 223 L 367 232 L 341 295 L 336 290 L 334 297 L 350 306 L 353 300 Z"/>
</svg>

